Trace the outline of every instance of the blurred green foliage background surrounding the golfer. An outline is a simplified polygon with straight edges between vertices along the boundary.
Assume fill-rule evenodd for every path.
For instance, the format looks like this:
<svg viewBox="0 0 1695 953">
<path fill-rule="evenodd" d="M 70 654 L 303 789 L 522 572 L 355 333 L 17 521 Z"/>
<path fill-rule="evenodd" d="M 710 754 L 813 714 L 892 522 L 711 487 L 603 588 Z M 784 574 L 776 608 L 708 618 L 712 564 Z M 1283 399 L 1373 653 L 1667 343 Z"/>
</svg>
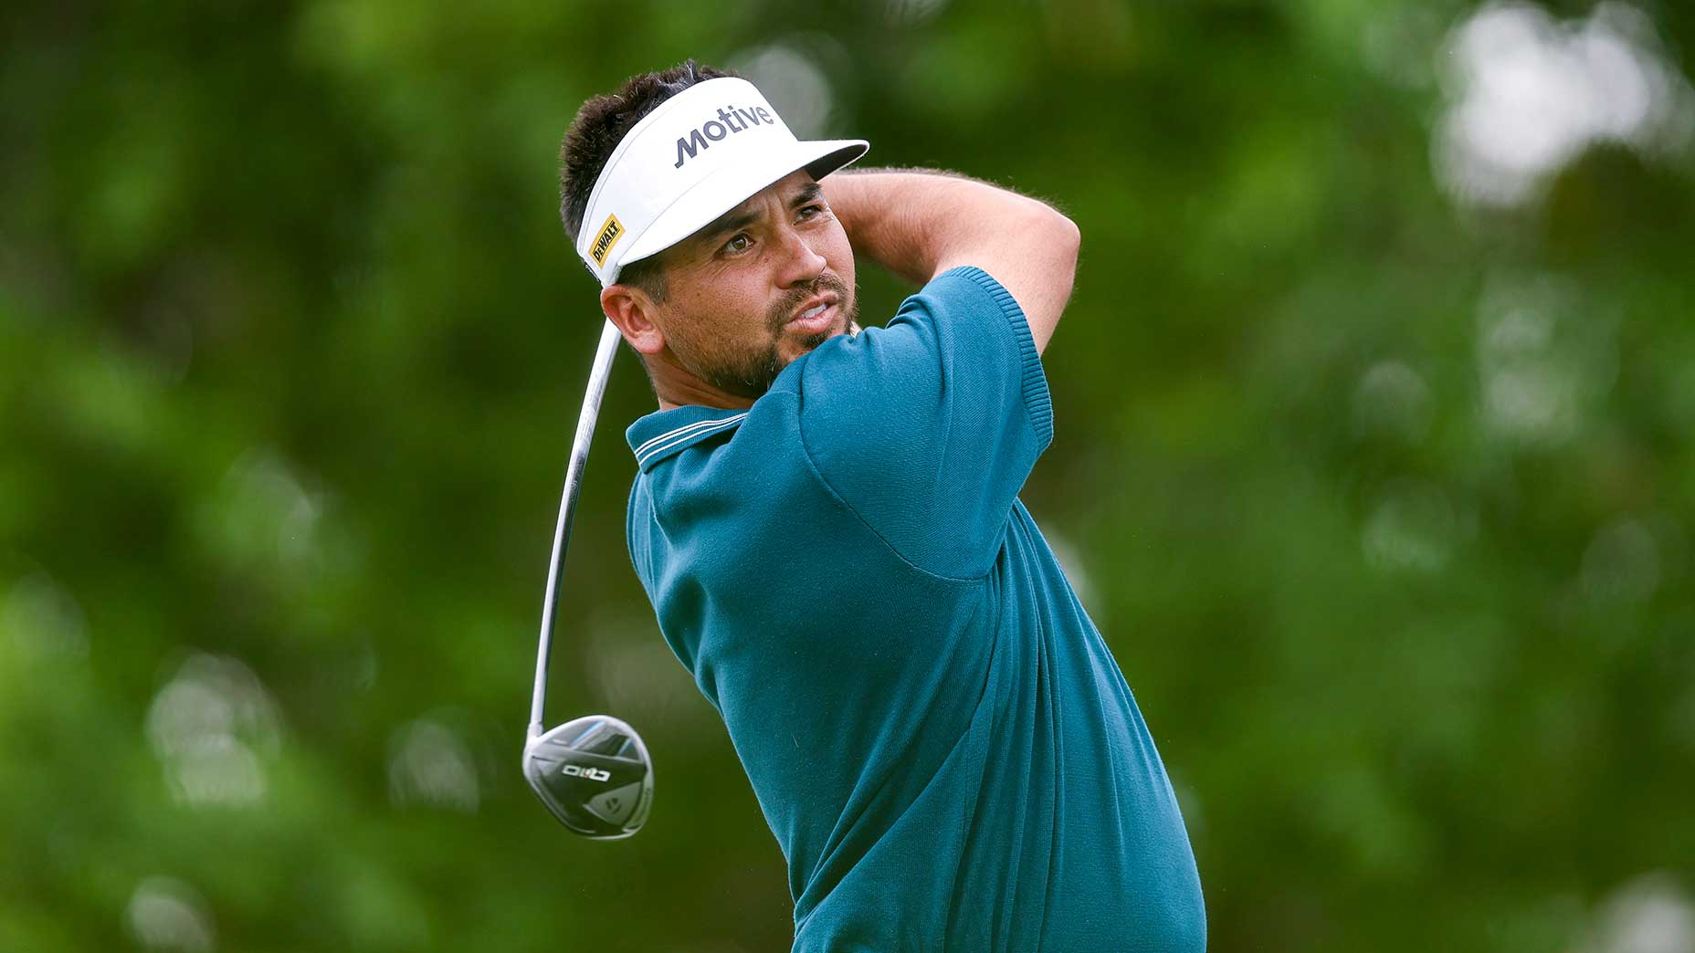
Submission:
<svg viewBox="0 0 1695 953">
<path fill-rule="evenodd" d="M 1081 227 L 1024 500 L 1214 950 L 1695 950 L 1688 5 L 166 0 L 0 42 L 0 950 L 786 950 L 629 566 L 627 351 L 549 717 L 632 721 L 654 812 L 581 841 L 519 775 L 600 326 L 558 141 L 686 56 Z"/>
</svg>

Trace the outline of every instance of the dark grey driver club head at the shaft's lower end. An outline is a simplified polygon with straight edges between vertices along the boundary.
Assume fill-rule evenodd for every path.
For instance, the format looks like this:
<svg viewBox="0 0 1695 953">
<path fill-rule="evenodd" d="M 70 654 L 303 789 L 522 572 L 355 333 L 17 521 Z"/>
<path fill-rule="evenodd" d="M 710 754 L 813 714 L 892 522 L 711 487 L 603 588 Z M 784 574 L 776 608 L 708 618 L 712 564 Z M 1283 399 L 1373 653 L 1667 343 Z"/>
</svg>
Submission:
<svg viewBox="0 0 1695 953">
<path fill-rule="evenodd" d="M 636 729 L 612 716 L 583 716 L 524 744 L 524 777 L 575 834 L 627 838 L 653 807 L 653 760 Z"/>
</svg>

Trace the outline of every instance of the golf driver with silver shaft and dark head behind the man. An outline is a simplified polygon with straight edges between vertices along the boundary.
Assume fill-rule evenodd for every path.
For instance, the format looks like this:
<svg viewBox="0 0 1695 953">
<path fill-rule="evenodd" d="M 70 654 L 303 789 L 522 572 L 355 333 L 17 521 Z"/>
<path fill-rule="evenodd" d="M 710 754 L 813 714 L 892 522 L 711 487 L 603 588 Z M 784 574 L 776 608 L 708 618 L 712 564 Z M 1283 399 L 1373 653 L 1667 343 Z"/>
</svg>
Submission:
<svg viewBox="0 0 1695 953">
<path fill-rule="evenodd" d="M 609 320 L 600 332 L 595 366 L 588 371 L 583 414 L 576 419 L 559 522 L 553 529 L 553 563 L 547 566 L 541 646 L 536 651 L 536 697 L 531 702 L 529 741 L 524 744 L 524 778 L 536 789 L 536 797 L 573 834 L 602 841 L 627 838 L 647 821 L 647 809 L 653 807 L 653 761 L 647 758 L 647 746 L 634 727 L 612 716 L 583 716 L 544 733 L 541 709 L 547 695 L 547 651 L 553 646 L 564 546 L 571 539 L 576 492 L 583 485 L 583 465 L 595 437 L 595 419 L 600 415 L 600 398 L 607 393 L 619 337 L 617 326 Z"/>
</svg>

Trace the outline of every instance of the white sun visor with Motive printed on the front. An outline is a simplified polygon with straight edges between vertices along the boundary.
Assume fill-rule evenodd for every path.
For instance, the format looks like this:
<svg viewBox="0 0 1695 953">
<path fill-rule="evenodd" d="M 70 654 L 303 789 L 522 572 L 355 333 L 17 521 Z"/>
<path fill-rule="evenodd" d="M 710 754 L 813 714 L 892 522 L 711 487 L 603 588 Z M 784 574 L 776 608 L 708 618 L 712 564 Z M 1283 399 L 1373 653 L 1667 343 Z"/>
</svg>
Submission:
<svg viewBox="0 0 1695 953">
<path fill-rule="evenodd" d="M 619 141 L 588 195 L 576 254 L 610 287 L 631 261 L 686 239 L 788 173 L 824 178 L 870 148 L 864 139 L 795 139 L 747 80 L 697 83 Z"/>
</svg>

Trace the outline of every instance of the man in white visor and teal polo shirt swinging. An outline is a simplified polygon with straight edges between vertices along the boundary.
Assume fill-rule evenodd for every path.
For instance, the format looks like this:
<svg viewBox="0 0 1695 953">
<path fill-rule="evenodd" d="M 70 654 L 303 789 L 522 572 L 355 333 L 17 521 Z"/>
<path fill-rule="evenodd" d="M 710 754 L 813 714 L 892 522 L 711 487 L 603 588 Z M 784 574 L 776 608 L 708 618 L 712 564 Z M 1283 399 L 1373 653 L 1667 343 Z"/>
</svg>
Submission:
<svg viewBox="0 0 1695 953">
<path fill-rule="evenodd" d="M 864 151 L 693 61 L 563 148 L 659 398 L 631 558 L 788 860 L 793 948 L 1203 950 L 1159 755 L 1017 500 L 1078 231 L 959 176 L 829 175 Z M 854 254 L 922 285 L 886 327 L 854 320 Z"/>
</svg>

